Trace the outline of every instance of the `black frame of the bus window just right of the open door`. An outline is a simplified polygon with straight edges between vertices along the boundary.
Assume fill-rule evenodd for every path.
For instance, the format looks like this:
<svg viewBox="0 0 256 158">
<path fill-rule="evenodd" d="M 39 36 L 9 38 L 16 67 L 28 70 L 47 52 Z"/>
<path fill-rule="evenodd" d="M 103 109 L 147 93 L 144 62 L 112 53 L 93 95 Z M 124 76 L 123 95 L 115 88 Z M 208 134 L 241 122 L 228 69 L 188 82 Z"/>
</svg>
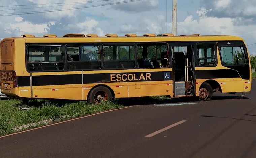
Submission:
<svg viewBox="0 0 256 158">
<path fill-rule="evenodd" d="M 198 59 L 198 44 L 214 44 L 214 49 L 215 49 L 215 59 L 216 59 L 216 63 L 215 63 L 215 65 L 199 65 L 198 64 L 198 60 L 200 60 L 200 59 Z M 217 53 L 217 42 L 216 41 L 210 41 L 210 42 L 203 42 L 203 41 L 200 41 L 200 42 L 197 42 L 196 44 L 195 44 L 195 46 L 196 46 L 196 50 L 195 50 L 195 67 L 216 67 L 217 65 L 218 65 L 218 53 Z"/>
</svg>

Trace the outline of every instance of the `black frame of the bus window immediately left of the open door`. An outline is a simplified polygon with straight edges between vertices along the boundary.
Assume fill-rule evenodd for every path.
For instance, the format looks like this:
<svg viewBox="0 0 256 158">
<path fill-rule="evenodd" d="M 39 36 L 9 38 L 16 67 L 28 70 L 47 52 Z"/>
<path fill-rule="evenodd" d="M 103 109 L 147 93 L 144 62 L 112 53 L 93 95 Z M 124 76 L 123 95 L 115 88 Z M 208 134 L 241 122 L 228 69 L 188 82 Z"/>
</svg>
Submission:
<svg viewBox="0 0 256 158">
<path fill-rule="evenodd" d="M 157 44 L 166 44 L 167 45 L 167 48 L 168 48 L 168 50 L 169 50 L 169 56 L 168 56 L 168 67 L 163 67 L 163 68 L 139 68 L 138 67 L 138 55 L 137 55 L 137 53 L 138 53 L 138 51 L 137 51 L 137 48 L 138 48 L 138 45 L 139 44 L 151 44 L 151 45 L 157 45 Z M 144 54 L 143 54 L 144 55 Z M 171 64 L 171 57 L 172 55 L 171 55 L 171 52 L 170 52 L 170 44 L 169 44 L 169 42 L 141 42 L 141 43 L 136 43 L 136 56 L 135 56 L 135 58 L 136 58 L 136 69 L 169 69 L 169 68 L 172 68 L 172 64 Z M 156 57 L 157 57 L 157 53 L 156 53 Z"/>
</svg>

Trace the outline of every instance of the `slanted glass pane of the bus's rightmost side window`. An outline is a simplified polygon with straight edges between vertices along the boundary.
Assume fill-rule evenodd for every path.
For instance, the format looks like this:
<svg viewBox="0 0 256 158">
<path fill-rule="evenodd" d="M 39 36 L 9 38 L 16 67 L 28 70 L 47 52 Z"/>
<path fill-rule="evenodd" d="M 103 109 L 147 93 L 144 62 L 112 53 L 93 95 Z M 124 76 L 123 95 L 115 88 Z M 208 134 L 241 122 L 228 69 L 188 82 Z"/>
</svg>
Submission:
<svg viewBox="0 0 256 158">
<path fill-rule="evenodd" d="M 223 65 L 247 64 L 244 47 L 220 47 L 221 60 Z"/>
</svg>

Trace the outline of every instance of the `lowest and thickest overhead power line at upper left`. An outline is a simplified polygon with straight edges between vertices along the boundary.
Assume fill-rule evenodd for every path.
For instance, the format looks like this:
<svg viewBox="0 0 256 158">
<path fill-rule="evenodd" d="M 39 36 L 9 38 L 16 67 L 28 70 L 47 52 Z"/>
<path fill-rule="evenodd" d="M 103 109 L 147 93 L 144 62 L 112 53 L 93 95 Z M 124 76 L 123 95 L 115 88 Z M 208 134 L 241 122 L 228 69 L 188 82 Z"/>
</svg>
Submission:
<svg viewBox="0 0 256 158">
<path fill-rule="evenodd" d="M 67 8 L 67 9 L 53 9 L 53 10 L 44 10 L 44 11 L 29 11 L 29 12 L 19 12 L 19 13 L 7 13 L 7 14 L 0 14 L 0 16 L 13 16 L 13 15 L 27 15 L 27 14 L 57 12 L 57 11 L 75 10 L 75 9 L 83 9 L 83 8 L 92 8 L 92 7 L 107 6 L 107 5 L 116 5 L 116 4 L 123 4 L 123 3 L 137 2 L 137 1 L 142 1 L 142 0 L 128 0 L 128 1 L 105 3 L 105 4 L 97 4 L 97 5 L 90 5 L 90 6 L 84 6 L 84 7 L 74 7 L 74 8 Z"/>
</svg>

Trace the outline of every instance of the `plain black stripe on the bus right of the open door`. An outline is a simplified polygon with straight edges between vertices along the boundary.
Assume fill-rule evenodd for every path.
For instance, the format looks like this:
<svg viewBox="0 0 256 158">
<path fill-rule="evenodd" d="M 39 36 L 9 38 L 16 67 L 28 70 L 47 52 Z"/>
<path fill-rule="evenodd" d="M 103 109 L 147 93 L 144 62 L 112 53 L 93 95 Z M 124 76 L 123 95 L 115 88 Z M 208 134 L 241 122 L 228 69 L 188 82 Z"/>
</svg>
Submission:
<svg viewBox="0 0 256 158">
<path fill-rule="evenodd" d="M 210 78 L 240 78 L 239 73 L 233 69 L 196 70 L 196 79 Z"/>
</svg>

